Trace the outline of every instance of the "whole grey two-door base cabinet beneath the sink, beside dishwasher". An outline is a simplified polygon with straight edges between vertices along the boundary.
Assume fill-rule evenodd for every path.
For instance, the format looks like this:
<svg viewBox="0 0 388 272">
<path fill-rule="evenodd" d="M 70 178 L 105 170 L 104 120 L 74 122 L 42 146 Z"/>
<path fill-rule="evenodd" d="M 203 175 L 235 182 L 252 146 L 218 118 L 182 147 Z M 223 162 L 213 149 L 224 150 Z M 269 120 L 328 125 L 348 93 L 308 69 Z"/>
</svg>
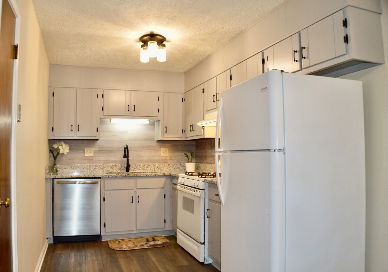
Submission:
<svg viewBox="0 0 388 272">
<path fill-rule="evenodd" d="M 171 230 L 170 177 L 102 180 L 102 235 Z"/>
</svg>

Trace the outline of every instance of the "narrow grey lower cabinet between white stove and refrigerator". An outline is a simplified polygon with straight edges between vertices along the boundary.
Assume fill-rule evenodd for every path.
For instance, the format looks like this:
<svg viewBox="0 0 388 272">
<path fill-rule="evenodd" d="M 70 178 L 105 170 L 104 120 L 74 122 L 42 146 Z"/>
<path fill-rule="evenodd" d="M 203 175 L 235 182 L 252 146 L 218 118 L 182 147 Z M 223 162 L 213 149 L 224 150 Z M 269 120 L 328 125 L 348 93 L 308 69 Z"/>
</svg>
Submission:
<svg viewBox="0 0 388 272">
<path fill-rule="evenodd" d="M 208 255 L 221 265 L 221 204 L 217 185 L 208 184 Z"/>
</svg>

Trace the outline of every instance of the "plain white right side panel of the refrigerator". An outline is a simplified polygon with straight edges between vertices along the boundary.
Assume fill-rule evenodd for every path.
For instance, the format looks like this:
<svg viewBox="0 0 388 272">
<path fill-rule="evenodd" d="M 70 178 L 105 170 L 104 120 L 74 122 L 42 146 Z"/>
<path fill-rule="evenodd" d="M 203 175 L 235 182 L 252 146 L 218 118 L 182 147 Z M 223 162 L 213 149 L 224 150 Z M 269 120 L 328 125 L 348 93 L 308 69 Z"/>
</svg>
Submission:
<svg viewBox="0 0 388 272">
<path fill-rule="evenodd" d="M 362 83 L 283 77 L 286 271 L 364 271 Z"/>
</svg>

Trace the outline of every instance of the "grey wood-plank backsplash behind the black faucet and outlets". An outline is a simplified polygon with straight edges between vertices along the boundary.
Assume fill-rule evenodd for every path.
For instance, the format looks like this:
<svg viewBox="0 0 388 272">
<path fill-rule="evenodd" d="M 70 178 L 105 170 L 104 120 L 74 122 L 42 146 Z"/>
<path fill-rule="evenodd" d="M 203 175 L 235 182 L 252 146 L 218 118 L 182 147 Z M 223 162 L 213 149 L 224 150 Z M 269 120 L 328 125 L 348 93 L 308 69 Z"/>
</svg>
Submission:
<svg viewBox="0 0 388 272">
<path fill-rule="evenodd" d="M 55 141 L 49 140 L 49 146 Z M 70 152 L 60 154 L 57 164 L 125 164 L 124 145 L 129 148 L 130 164 L 184 163 L 183 152 L 196 150 L 196 162 L 214 164 L 214 139 L 200 141 L 155 141 L 155 123 L 111 124 L 100 120 L 99 140 L 63 140 Z M 94 156 L 86 157 L 85 148 L 94 148 Z M 168 156 L 160 156 L 160 148 L 168 148 Z M 55 153 L 55 152 L 54 152 Z M 53 158 L 50 155 L 50 164 Z"/>
</svg>

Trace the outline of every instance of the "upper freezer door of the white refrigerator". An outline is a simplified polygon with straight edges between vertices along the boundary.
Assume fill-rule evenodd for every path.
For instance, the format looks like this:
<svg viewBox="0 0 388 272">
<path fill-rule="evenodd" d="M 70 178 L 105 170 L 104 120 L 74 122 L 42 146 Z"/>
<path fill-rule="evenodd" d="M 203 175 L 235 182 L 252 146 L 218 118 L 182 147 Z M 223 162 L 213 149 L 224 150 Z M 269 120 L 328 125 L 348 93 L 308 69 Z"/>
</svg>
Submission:
<svg viewBox="0 0 388 272">
<path fill-rule="evenodd" d="M 221 148 L 269 150 L 284 147 L 280 71 L 270 71 L 220 93 Z"/>
</svg>

